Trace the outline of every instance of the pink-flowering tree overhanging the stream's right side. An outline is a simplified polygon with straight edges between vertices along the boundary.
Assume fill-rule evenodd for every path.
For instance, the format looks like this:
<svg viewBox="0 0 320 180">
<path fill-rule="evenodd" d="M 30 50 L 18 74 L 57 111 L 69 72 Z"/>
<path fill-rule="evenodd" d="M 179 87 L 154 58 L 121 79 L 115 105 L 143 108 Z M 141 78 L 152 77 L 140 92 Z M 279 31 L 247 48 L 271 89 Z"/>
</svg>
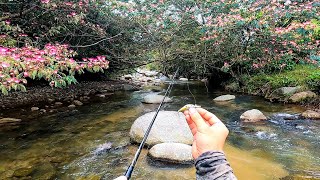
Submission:
<svg viewBox="0 0 320 180">
<path fill-rule="evenodd" d="M 276 0 L 134 1 L 121 12 L 144 27 L 164 70 L 185 74 L 319 66 L 319 3 Z"/>
</svg>

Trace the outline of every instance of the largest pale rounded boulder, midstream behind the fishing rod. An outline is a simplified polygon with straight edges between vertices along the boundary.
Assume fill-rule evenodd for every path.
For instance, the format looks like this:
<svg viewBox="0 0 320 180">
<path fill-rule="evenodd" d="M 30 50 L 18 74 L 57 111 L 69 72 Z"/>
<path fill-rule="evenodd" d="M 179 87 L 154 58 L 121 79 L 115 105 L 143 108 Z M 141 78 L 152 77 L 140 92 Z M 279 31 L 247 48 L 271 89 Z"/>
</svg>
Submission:
<svg viewBox="0 0 320 180">
<path fill-rule="evenodd" d="M 155 112 L 150 112 L 136 119 L 130 129 L 132 141 L 140 143 Z M 193 136 L 185 116 L 177 111 L 160 111 L 150 131 L 146 144 L 183 143 L 192 144 Z"/>
</svg>

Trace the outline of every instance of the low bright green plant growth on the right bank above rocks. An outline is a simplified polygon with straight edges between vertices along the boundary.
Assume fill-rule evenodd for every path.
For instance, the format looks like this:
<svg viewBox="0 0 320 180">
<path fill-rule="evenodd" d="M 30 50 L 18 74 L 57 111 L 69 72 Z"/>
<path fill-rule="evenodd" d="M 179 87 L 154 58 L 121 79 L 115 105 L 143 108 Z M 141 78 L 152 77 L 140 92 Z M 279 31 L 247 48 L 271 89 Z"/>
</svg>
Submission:
<svg viewBox="0 0 320 180">
<path fill-rule="evenodd" d="M 254 76 L 245 75 L 241 79 L 245 83 L 244 91 L 253 94 L 266 94 L 271 90 L 289 86 L 317 90 L 320 86 L 320 68 L 312 65 L 297 65 L 293 70 Z"/>
</svg>

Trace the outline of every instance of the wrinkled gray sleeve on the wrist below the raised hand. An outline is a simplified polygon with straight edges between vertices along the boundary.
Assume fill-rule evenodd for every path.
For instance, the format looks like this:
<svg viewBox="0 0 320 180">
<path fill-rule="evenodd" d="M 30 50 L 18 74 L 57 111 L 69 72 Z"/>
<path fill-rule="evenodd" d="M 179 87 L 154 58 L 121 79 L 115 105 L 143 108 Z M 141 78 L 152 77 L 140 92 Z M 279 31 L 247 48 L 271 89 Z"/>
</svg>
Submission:
<svg viewBox="0 0 320 180">
<path fill-rule="evenodd" d="M 197 180 L 236 180 L 225 155 L 220 151 L 208 151 L 195 161 Z"/>
</svg>

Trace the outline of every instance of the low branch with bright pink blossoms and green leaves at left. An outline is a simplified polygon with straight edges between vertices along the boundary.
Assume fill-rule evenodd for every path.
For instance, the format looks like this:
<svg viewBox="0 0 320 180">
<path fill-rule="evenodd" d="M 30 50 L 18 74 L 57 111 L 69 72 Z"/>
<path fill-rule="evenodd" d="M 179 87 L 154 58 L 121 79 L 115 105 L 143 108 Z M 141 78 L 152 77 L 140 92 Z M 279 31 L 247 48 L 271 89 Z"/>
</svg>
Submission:
<svg viewBox="0 0 320 180">
<path fill-rule="evenodd" d="M 44 79 L 52 87 L 65 87 L 77 82 L 76 73 L 103 72 L 109 67 L 104 56 L 80 62 L 72 58 L 75 54 L 67 45 L 59 44 L 47 44 L 43 49 L 0 46 L 0 91 L 5 95 L 12 89 L 26 91 L 27 78 Z"/>
</svg>

